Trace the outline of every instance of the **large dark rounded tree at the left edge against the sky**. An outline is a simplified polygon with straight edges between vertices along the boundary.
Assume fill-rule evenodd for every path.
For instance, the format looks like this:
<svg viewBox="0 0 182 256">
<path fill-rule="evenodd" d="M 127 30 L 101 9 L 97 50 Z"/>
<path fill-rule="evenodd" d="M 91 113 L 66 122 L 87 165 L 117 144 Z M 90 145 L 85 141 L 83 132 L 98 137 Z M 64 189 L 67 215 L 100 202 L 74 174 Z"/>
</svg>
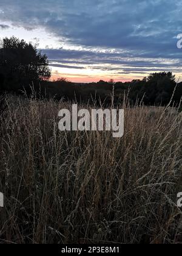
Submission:
<svg viewBox="0 0 182 256">
<path fill-rule="evenodd" d="M 17 90 L 50 78 L 49 61 L 31 43 L 4 38 L 0 46 L 0 89 Z"/>
</svg>

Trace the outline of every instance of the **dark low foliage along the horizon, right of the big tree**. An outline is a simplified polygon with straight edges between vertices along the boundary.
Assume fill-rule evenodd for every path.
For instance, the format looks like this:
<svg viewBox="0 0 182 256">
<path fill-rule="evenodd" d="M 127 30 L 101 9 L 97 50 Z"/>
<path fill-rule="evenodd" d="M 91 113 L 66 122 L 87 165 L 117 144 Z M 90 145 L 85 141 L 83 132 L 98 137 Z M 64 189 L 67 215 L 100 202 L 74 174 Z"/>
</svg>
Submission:
<svg viewBox="0 0 182 256">
<path fill-rule="evenodd" d="M 98 102 L 108 105 L 111 102 L 111 95 L 114 89 L 115 104 L 123 101 L 124 95 L 128 94 L 131 104 L 143 100 L 145 105 L 167 105 L 179 104 L 182 96 L 182 83 L 175 82 L 172 73 L 154 73 L 143 80 L 132 80 L 132 82 L 117 82 L 110 84 L 100 80 L 97 83 L 75 84 L 65 79 L 58 79 L 53 82 L 42 83 L 42 88 L 57 99 L 65 99 L 88 102 L 93 98 Z"/>
</svg>

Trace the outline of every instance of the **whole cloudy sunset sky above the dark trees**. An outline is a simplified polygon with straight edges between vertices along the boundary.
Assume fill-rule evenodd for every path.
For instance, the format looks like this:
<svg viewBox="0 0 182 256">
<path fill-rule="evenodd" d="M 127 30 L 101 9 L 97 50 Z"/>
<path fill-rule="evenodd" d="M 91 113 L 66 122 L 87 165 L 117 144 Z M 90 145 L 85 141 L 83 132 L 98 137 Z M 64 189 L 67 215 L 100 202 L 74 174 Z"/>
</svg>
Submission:
<svg viewBox="0 0 182 256">
<path fill-rule="evenodd" d="M 159 71 L 180 79 L 181 13 L 179 0 L 0 0 L 0 38 L 41 49 L 52 79 L 124 82 Z"/>
</svg>

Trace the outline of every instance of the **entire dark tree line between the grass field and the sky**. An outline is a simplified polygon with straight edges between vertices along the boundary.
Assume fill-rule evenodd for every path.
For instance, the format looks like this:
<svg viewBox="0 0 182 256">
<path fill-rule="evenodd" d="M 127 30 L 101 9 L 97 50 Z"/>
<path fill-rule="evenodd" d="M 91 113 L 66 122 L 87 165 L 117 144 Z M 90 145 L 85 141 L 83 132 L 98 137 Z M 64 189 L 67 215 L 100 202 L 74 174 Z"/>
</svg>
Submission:
<svg viewBox="0 0 182 256">
<path fill-rule="evenodd" d="M 26 90 L 30 93 L 30 85 L 35 89 L 47 90 L 59 99 L 62 96 L 72 99 L 75 95 L 85 100 L 99 91 L 99 98 L 103 98 L 115 89 L 115 95 L 122 97 L 125 91 L 129 92 L 131 102 L 143 99 L 146 105 L 166 105 L 173 96 L 173 101 L 178 104 L 182 96 L 182 83 L 177 83 L 171 72 L 160 72 L 150 74 L 143 80 L 132 82 L 105 82 L 83 85 L 68 82 L 65 79 L 58 79 L 50 82 L 51 71 L 47 55 L 38 51 L 31 43 L 26 43 L 18 38 L 4 38 L 0 45 L 0 92 L 20 93 Z"/>
</svg>

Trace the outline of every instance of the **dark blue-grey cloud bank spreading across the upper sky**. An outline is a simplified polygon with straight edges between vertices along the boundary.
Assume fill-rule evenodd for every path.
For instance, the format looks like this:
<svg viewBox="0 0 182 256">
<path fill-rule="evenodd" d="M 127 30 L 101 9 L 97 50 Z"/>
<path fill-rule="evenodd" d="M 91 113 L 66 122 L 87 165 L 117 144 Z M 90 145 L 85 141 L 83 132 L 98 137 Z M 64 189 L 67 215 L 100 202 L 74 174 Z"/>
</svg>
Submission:
<svg viewBox="0 0 182 256">
<path fill-rule="evenodd" d="M 90 47 L 90 51 L 50 51 L 62 63 L 118 63 L 123 57 L 181 59 L 177 35 L 182 32 L 182 4 L 177 0 L 1 0 L 0 21 L 25 29 L 44 27 L 60 44 Z M 93 47 L 124 49 L 123 54 L 99 54 Z M 119 59 L 117 59 L 117 57 Z M 100 60 L 101 58 L 101 60 Z M 178 63 L 178 61 L 177 61 Z M 166 68 L 165 63 L 125 62 Z M 174 67 L 174 65 L 170 65 Z M 169 66 L 169 65 L 168 65 Z M 178 66 L 181 66 L 178 63 Z"/>
</svg>

